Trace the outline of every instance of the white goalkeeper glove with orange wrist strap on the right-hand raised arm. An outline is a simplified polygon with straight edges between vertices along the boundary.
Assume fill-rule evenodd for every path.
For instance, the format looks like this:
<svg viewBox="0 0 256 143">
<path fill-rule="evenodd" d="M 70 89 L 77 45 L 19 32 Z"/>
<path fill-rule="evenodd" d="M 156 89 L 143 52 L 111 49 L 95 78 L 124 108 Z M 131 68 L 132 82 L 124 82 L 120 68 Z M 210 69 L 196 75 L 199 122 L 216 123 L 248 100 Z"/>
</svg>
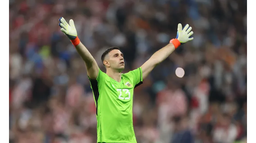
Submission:
<svg viewBox="0 0 256 143">
<path fill-rule="evenodd" d="M 191 30 L 192 30 L 192 28 L 189 27 L 189 24 L 186 24 L 183 27 L 183 29 L 182 29 L 182 25 L 180 23 L 178 24 L 177 36 L 175 39 L 172 39 L 170 41 L 170 43 L 172 43 L 174 45 L 175 49 L 177 47 L 179 47 L 181 44 L 184 44 L 188 41 L 192 41 L 194 39 L 193 37 L 190 37 L 194 33 Z"/>
</svg>

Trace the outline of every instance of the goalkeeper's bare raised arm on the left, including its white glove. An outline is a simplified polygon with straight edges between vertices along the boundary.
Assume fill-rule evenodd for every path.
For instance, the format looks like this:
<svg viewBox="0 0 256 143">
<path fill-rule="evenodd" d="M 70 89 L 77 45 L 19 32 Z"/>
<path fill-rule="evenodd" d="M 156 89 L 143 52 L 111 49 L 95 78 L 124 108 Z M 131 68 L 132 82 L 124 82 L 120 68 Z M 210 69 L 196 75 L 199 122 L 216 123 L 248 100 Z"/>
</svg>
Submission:
<svg viewBox="0 0 256 143">
<path fill-rule="evenodd" d="M 87 48 L 80 42 L 79 38 L 77 37 L 74 21 L 71 19 L 69 21 L 69 24 L 66 22 L 64 18 L 60 18 L 59 21 L 61 31 L 64 34 L 66 34 L 66 36 L 70 39 L 72 44 L 75 46 L 77 53 L 82 57 L 83 61 L 85 62 L 89 78 L 96 79 L 99 73 L 99 67 L 91 53 L 87 50 Z"/>
</svg>

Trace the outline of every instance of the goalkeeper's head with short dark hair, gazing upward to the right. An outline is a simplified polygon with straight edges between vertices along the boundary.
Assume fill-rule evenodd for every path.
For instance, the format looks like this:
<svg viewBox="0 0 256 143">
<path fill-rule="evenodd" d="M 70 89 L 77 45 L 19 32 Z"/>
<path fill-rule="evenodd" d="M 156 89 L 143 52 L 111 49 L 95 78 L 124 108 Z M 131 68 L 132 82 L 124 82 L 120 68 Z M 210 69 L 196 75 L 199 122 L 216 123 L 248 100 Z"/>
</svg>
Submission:
<svg viewBox="0 0 256 143">
<path fill-rule="evenodd" d="M 118 72 L 121 72 L 125 68 L 124 56 L 119 50 L 112 50 L 108 53 L 107 57 L 105 58 L 104 64 L 107 67 L 110 67 L 112 69 L 118 70 Z"/>
</svg>

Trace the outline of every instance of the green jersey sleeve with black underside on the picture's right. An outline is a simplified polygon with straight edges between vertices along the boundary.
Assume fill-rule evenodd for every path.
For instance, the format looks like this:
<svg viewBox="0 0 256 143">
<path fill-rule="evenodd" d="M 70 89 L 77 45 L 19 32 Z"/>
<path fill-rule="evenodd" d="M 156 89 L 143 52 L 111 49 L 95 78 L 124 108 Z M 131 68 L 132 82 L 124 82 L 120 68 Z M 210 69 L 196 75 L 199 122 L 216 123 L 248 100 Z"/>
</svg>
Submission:
<svg viewBox="0 0 256 143">
<path fill-rule="evenodd" d="M 133 79 L 133 85 L 135 85 L 134 88 L 143 84 L 141 67 L 135 70 L 131 70 L 130 72 L 127 73 L 127 76 Z"/>
</svg>

